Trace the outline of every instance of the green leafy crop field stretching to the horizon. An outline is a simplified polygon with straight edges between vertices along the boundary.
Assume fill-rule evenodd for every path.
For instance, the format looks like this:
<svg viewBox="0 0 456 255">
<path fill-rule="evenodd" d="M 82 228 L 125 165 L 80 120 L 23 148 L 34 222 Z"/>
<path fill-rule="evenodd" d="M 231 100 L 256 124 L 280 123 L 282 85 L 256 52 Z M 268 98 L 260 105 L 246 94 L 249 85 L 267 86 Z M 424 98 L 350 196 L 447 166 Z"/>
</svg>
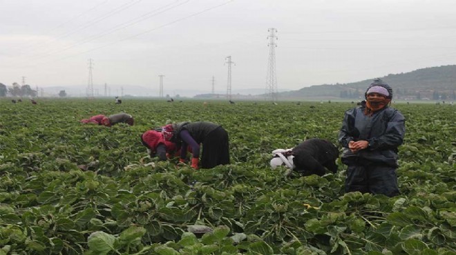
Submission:
<svg viewBox="0 0 456 255">
<path fill-rule="evenodd" d="M 0 255 L 456 254 L 456 106 L 393 105 L 407 119 L 400 196 L 345 194 L 340 160 L 322 177 L 270 169 L 277 148 L 336 143 L 352 107 L 1 99 Z M 79 123 L 119 112 L 135 125 Z M 220 123 L 231 164 L 150 159 L 140 134 L 171 121 Z"/>
</svg>

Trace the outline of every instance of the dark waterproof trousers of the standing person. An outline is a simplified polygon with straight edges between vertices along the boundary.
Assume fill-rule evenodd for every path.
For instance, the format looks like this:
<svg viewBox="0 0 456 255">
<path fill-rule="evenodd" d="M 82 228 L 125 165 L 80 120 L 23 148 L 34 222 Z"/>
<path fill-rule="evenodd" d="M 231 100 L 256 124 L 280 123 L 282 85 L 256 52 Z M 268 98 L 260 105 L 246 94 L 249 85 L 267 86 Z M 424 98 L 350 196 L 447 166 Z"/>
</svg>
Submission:
<svg viewBox="0 0 456 255">
<path fill-rule="evenodd" d="M 349 165 L 345 192 L 399 195 L 396 168 L 387 165 Z"/>
</svg>

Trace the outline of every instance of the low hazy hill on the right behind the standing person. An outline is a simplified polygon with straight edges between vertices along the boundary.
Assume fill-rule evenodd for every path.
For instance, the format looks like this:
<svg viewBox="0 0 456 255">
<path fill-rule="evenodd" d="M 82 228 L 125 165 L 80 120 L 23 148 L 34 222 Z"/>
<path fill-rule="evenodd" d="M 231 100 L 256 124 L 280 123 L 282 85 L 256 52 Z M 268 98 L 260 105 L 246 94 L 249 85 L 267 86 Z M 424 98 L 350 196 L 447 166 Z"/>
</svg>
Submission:
<svg viewBox="0 0 456 255">
<path fill-rule="evenodd" d="M 359 99 L 372 79 L 354 83 L 313 85 L 301 90 L 279 93 L 279 99 Z M 412 72 L 379 77 L 390 84 L 395 99 L 456 99 L 456 65 L 423 68 Z"/>
</svg>

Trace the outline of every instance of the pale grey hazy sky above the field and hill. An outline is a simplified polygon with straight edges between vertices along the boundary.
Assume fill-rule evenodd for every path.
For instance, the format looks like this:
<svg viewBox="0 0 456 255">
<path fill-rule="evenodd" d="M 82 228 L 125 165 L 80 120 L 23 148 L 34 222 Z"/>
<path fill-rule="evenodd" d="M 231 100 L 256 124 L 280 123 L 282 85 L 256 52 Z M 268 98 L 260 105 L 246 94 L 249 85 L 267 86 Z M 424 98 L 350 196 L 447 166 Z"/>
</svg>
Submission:
<svg viewBox="0 0 456 255">
<path fill-rule="evenodd" d="M 0 0 L 0 83 L 279 89 L 456 63 L 454 0 Z"/>
</svg>

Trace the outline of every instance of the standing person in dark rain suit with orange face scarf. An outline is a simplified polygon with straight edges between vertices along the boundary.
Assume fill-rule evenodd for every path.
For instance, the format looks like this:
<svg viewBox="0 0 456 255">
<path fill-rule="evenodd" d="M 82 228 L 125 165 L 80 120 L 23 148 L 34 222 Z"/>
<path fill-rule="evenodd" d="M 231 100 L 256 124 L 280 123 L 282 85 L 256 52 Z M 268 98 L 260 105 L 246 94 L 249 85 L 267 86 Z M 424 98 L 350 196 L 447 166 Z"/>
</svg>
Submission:
<svg viewBox="0 0 456 255">
<path fill-rule="evenodd" d="M 405 118 L 390 108 L 392 88 L 376 79 L 361 106 L 345 112 L 339 143 L 348 165 L 345 192 L 397 196 L 397 147 L 403 143 Z"/>
</svg>

